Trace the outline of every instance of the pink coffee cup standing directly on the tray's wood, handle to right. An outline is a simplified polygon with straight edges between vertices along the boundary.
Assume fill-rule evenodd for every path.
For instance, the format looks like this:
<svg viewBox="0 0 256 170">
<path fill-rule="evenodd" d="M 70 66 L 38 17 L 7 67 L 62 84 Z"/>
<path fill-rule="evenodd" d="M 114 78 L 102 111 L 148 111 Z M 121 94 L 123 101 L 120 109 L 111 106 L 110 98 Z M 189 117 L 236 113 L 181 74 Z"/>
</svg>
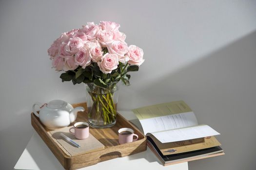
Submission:
<svg viewBox="0 0 256 170">
<path fill-rule="evenodd" d="M 133 139 L 133 136 L 136 136 L 136 138 Z M 121 128 L 118 130 L 119 144 L 129 143 L 135 140 L 138 140 L 138 135 L 134 134 L 134 130 L 130 128 Z"/>
</svg>

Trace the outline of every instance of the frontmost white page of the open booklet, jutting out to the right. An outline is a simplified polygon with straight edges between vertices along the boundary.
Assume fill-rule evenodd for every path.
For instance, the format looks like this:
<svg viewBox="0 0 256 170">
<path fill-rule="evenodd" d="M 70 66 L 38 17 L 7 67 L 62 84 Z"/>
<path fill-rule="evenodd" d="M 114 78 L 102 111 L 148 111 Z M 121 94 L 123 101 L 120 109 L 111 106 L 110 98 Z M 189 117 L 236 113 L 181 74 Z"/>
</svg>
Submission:
<svg viewBox="0 0 256 170">
<path fill-rule="evenodd" d="M 155 132 L 151 134 L 154 135 L 161 143 L 219 135 L 217 131 L 208 125 L 198 125 L 181 129 Z"/>
</svg>

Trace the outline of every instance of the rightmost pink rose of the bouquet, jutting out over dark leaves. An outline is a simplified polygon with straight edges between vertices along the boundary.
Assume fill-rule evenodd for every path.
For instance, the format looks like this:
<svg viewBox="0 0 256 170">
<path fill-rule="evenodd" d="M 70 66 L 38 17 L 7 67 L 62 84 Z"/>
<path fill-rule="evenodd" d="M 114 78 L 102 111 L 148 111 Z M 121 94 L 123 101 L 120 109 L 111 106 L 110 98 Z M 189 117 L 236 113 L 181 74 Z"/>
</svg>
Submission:
<svg viewBox="0 0 256 170">
<path fill-rule="evenodd" d="M 140 66 L 145 60 L 143 59 L 143 50 L 136 47 L 135 45 L 130 45 L 128 47 L 128 57 L 129 61 L 128 63 L 131 65 L 137 65 Z"/>
</svg>

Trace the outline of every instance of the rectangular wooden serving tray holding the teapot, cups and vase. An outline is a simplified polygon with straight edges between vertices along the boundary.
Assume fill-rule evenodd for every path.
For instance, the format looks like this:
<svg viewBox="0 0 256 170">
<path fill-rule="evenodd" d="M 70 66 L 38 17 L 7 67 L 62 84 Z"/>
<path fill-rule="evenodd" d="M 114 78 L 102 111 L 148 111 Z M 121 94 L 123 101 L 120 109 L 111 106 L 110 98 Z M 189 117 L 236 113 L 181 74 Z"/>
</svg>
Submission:
<svg viewBox="0 0 256 170">
<path fill-rule="evenodd" d="M 73 106 L 82 106 L 86 110 L 85 112 L 78 112 L 76 121 L 88 121 L 86 103 L 73 104 Z M 31 124 L 66 170 L 76 170 L 109 159 L 143 152 L 147 149 L 146 137 L 137 127 L 123 118 L 120 114 L 117 114 L 116 125 L 111 128 L 95 129 L 90 127 L 90 133 L 105 146 L 105 149 L 96 152 L 82 153 L 76 156 L 66 155 L 48 135 L 47 132 L 51 130 L 47 129 L 33 113 L 31 113 Z M 70 124 L 70 126 L 72 125 L 73 124 Z M 138 135 L 138 140 L 120 145 L 118 143 L 118 129 L 123 127 L 132 128 L 135 131 L 135 134 Z"/>
</svg>

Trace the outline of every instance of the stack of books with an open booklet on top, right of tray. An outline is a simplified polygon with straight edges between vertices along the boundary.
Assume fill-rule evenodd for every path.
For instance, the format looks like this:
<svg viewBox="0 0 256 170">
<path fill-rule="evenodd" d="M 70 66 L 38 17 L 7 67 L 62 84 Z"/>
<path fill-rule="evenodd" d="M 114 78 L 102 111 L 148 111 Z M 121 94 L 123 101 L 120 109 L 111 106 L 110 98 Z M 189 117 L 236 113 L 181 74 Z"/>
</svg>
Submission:
<svg viewBox="0 0 256 170">
<path fill-rule="evenodd" d="M 194 112 L 183 101 L 134 109 L 147 136 L 148 147 L 162 164 L 223 155 L 216 135 L 208 125 L 199 125 Z"/>
</svg>

